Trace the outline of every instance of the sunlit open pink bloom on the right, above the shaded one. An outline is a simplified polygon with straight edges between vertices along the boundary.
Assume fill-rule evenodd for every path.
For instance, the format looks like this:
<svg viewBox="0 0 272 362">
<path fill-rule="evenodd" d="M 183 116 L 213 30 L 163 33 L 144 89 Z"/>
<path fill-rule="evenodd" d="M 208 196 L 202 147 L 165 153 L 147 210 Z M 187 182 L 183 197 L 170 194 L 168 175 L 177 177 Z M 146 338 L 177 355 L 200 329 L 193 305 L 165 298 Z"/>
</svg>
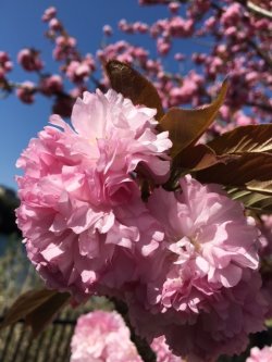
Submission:
<svg viewBox="0 0 272 362">
<path fill-rule="evenodd" d="M 170 279 L 166 277 L 162 289 L 165 308 L 172 305 L 172 300 L 176 310 L 197 310 L 197 302 L 190 307 L 184 297 L 190 289 L 198 289 L 198 283 L 200 295 L 211 292 L 213 287 L 214 291 L 234 287 L 242 278 L 243 269 L 258 267 L 257 228 L 248 225 L 242 205 L 219 187 L 202 186 L 186 176 L 176 195 L 156 189 L 148 207 L 165 227 L 168 249 L 173 258 L 168 255 Z M 201 299 L 199 296 L 199 302 Z"/>
</svg>

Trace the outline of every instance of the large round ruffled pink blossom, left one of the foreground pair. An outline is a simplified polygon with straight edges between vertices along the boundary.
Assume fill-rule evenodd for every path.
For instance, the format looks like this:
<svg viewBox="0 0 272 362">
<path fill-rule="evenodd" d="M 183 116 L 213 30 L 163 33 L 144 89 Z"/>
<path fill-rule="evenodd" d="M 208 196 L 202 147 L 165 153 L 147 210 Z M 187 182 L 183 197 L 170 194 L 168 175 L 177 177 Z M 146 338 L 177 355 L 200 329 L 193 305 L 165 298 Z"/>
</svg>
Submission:
<svg viewBox="0 0 272 362">
<path fill-rule="evenodd" d="M 82 300 L 140 277 L 163 233 L 140 199 L 139 173 L 165 180 L 172 146 L 154 114 L 114 90 L 85 92 L 74 129 L 54 115 L 22 153 L 17 224 L 49 287 Z"/>
</svg>

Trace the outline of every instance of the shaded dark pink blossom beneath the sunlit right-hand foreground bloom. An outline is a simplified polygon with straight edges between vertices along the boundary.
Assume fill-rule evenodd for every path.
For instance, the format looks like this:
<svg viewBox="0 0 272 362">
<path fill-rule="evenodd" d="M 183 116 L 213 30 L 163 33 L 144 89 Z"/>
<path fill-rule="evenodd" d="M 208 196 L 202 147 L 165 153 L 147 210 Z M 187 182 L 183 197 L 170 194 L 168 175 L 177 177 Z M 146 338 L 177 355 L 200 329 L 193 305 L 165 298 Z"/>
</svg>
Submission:
<svg viewBox="0 0 272 362">
<path fill-rule="evenodd" d="M 249 342 L 248 335 L 264 329 L 267 301 L 260 288 L 260 275 L 246 270 L 235 287 L 208 292 L 198 311 L 189 313 L 156 312 L 146 301 L 145 287 L 126 298 L 137 333 L 148 340 L 164 335 L 174 354 L 186 361 L 210 362 L 221 354 L 239 354 Z M 193 298 L 190 307 L 199 302 L 197 295 Z"/>
</svg>

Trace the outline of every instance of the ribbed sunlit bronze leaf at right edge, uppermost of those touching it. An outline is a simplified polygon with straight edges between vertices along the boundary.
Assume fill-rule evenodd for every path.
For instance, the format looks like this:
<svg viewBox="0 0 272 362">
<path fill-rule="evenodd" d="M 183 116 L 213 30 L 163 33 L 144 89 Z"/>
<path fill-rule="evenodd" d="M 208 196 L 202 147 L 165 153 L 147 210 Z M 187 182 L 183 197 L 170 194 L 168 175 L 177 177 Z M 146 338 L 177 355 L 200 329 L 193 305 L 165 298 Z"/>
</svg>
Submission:
<svg viewBox="0 0 272 362">
<path fill-rule="evenodd" d="M 208 143 L 217 154 L 272 153 L 272 124 L 237 127 Z"/>
</svg>

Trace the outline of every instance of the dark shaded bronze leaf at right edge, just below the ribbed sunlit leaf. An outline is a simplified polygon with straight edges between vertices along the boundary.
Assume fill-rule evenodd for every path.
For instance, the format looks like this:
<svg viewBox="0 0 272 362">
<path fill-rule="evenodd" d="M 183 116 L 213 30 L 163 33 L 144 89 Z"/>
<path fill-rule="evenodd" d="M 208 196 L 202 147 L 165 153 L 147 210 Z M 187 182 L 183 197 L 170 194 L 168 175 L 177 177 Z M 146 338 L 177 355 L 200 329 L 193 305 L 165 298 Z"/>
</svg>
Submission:
<svg viewBox="0 0 272 362">
<path fill-rule="evenodd" d="M 215 164 L 199 171 L 196 176 L 202 183 L 244 187 L 251 191 L 272 195 L 272 154 L 244 153 L 226 164 Z"/>
</svg>

